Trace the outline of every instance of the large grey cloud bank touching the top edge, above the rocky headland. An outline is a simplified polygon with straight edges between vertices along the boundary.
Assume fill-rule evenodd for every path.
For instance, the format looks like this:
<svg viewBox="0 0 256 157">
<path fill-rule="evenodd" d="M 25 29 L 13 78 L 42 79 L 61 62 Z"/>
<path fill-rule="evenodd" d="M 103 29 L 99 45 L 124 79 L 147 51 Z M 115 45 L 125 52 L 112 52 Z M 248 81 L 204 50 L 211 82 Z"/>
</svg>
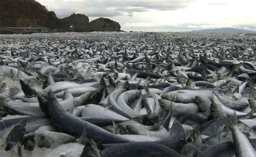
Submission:
<svg viewBox="0 0 256 157">
<path fill-rule="evenodd" d="M 105 0 L 38 0 L 39 3 L 47 5 L 49 10 L 54 10 L 60 18 L 69 16 L 70 13 L 83 13 L 89 17 L 114 17 L 133 16 L 136 12 L 147 12 L 150 10 L 170 11 L 183 9 L 192 0 L 154 0 L 154 1 L 105 1 Z"/>
</svg>

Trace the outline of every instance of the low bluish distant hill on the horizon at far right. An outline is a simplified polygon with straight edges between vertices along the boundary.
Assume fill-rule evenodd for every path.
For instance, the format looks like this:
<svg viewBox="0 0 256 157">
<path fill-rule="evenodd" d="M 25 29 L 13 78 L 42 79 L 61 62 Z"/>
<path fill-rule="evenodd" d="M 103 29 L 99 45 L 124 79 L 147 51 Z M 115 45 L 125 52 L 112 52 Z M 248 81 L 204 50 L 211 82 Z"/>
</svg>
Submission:
<svg viewBox="0 0 256 157">
<path fill-rule="evenodd" d="M 194 30 L 191 32 L 198 33 L 252 33 L 255 34 L 256 31 L 242 30 L 237 28 L 216 28 L 216 29 L 206 29 L 206 30 Z"/>
</svg>

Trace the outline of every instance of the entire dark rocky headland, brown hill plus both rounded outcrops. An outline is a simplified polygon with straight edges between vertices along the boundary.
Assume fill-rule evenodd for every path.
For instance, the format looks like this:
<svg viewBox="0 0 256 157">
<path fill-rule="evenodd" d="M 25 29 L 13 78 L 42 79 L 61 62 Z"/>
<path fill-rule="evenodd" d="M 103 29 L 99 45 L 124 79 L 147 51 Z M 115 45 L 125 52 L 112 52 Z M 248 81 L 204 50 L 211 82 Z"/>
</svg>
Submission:
<svg viewBox="0 0 256 157">
<path fill-rule="evenodd" d="M 57 32 L 120 31 L 120 25 L 107 18 L 98 18 L 89 23 L 87 16 L 73 13 L 59 19 L 55 12 L 47 11 L 35 0 L 0 0 L 0 26 L 48 27 Z"/>
</svg>

